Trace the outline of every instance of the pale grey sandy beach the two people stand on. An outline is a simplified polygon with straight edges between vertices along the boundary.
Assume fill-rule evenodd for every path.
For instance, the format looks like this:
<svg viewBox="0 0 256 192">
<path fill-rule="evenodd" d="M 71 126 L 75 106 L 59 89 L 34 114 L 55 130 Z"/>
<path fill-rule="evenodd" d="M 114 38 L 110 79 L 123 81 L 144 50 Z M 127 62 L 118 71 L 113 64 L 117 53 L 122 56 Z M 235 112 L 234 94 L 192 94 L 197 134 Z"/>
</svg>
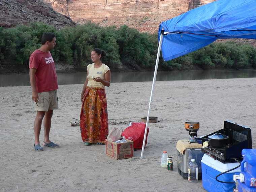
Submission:
<svg viewBox="0 0 256 192">
<path fill-rule="evenodd" d="M 186 191 L 201 192 L 202 182 L 190 184 L 177 169 L 176 143 L 189 138 L 186 121 L 200 122 L 198 136 L 224 128 L 224 120 L 252 130 L 256 148 L 256 78 L 156 82 L 144 157 L 105 155 L 105 146 L 84 146 L 79 126 L 83 85 L 60 85 L 59 109 L 54 111 L 50 139 L 60 148 L 35 152 L 35 111 L 29 86 L 0 87 L 0 191 Z M 126 128 L 147 116 L 152 82 L 113 83 L 106 88 L 109 131 Z M 40 142 L 43 142 L 43 128 Z M 173 171 L 161 167 L 162 151 L 173 156 Z"/>
</svg>

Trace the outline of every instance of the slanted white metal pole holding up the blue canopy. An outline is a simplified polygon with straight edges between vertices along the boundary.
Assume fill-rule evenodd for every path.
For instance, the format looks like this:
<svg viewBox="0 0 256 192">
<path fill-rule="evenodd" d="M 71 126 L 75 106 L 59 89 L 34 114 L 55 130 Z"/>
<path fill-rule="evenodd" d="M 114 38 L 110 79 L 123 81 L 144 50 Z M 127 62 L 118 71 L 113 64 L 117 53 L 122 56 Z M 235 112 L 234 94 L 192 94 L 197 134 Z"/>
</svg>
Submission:
<svg viewBox="0 0 256 192">
<path fill-rule="evenodd" d="M 156 66 L 155 66 L 154 78 L 153 78 L 153 83 L 152 83 L 152 88 L 151 88 L 151 95 L 150 95 L 150 100 L 149 100 L 148 117 L 147 117 L 147 122 L 146 122 L 146 127 L 145 127 L 145 133 L 144 133 L 144 138 L 143 138 L 143 145 L 142 145 L 142 151 L 141 151 L 140 159 L 142 159 L 142 157 L 143 157 L 143 152 L 144 152 L 144 147 L 145 147 L 147 129 L 148 129 L 148 124 L 149 124 L 149 113 L 150 113 L 151 101 L 152 101 L 155 82 L 156 82 L 156 74 L 157 74 L 158 62 L 159 62 L 159 57 L 160 57 L 160 52 L 161 52 L 163 35 L 164 35 L 164 30 L 162 29 L 161 30 L 161 35 L 160 35 L 160 40 L 159 40 L 159 45 L 158 45 L 158 52 L 157 52 L 157 57 L 156 57 Z"/>
</svg>

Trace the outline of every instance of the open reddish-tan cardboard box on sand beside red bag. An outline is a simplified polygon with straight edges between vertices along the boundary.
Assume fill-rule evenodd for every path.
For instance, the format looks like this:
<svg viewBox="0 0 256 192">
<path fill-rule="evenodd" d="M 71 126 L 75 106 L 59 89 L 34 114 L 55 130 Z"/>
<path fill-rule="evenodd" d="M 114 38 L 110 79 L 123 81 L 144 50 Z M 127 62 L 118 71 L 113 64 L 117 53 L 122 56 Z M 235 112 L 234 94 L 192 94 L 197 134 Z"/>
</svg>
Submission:
<svg viewBox="0 0 256 192">
<path fill-rule="evenodd" d="M 133 141 L 125 139 L 126 143 L 115 143 L 106 139 L 106 155 L 114 159 L 133 157 Z"/>
</svg>

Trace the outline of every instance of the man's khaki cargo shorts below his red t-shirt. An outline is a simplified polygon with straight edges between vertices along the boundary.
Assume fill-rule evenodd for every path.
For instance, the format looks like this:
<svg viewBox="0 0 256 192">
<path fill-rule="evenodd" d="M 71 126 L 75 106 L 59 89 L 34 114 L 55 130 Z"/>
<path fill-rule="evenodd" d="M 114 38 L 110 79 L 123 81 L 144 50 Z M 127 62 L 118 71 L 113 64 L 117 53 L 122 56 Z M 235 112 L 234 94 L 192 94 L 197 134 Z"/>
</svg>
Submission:
<svg viewBox="0 0 256 192">
<path fill-rule="evenodd" d="M 57 90 L 38 93 L 38 101 L 35 103 L 36 111 L 48 111 L 58 109 Z"/>
</svg>

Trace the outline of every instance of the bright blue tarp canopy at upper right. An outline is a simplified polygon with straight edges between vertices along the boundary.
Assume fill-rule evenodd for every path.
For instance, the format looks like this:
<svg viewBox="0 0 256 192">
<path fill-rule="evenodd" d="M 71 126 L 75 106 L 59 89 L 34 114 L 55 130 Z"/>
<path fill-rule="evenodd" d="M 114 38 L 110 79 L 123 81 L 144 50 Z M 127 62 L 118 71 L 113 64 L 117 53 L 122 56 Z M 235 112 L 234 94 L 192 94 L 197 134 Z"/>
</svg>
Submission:
<svg viewBox="0 0 256 192">
<path fill-rule="evenodd" d="M 256 39 L 256 0 L 218 0 L 160 24 L 165 61 L 196 51 L 217 39 Z"/>
</svg>

